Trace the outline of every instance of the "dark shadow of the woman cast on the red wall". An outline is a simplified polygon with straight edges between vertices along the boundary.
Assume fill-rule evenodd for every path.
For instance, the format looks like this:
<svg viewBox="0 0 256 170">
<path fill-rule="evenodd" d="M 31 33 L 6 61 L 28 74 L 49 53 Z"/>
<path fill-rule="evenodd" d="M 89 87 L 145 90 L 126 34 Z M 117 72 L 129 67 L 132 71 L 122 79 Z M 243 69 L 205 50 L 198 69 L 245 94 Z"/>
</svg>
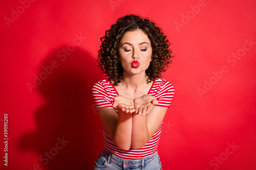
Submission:
<svg viewBox="0 0 256 170">
<path fill-rule="evenodd" d="M 65 47 L 50 53 L 40 67 L 38 76 L 45 80 L 37 82 L 37 90 L 46 103 L 35 112 L 36 131 L 24 134 L 18 145 L 35 151 L 46 169 L 93 169 L 104 148 L 91 93 L 100 72 L 88 53 L 76 48 L 66 55 Z"/>
</svg>

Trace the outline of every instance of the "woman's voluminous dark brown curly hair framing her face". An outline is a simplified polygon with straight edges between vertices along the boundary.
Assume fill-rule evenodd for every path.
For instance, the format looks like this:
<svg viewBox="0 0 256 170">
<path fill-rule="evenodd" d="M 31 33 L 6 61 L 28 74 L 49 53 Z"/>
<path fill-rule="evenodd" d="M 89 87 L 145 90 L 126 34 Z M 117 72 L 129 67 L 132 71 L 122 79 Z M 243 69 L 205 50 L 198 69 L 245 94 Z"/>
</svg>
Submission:
<svg viewBox="0 0 256 170">
<path fill-rule="evenodd" d="M 137 15 L 125 15 L 111 26 L 110 30 L 105 31 L 105 36 L 101 37 L 102 44 L 98 51 L 99 68 L 106 74 L 114 85 L 122 80 L 123 68 L 119 60 L 118 47 L 123 35 L 128 31 L 142 30 L 150 39 L 152 46 L 152 61 L 145 70 L 147 81 L 150 83 L 155 78 L 161 78 L 161 72 L 166 71 L 166 67 L 172 63 L 169 49 L 170 43 L 163 34 L 162 29 L 157 27 L 154 22 L 147 18 Z"/>
</svg>

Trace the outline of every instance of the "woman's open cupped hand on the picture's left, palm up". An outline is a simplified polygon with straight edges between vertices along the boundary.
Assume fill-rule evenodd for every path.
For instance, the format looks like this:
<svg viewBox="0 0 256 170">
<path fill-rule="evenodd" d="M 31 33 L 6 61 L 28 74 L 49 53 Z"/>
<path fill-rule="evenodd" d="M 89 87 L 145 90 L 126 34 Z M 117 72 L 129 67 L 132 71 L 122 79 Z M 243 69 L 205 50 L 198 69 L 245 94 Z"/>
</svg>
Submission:
<svg viewBox="0 0 256 170">
<path fill-rule="evenodd" d="M 130 98 L 125 98 L 122 95 L 115 96 L 113 106 L 126 113 L 135 112 L 134 101 Z"/>
</svg>

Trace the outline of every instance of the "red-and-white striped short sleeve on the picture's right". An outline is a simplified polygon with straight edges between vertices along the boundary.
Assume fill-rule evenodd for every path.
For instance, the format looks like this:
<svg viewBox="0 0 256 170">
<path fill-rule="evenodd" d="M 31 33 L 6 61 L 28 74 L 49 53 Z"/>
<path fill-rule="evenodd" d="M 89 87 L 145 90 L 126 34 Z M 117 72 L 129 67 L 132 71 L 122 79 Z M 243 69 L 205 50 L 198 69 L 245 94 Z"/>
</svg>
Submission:
<svg viewBox="0 0 256 170">
<path fill-rule="evenodd" d="M 174 86 L 168 81 L 164 81 L 157 90 L 157 95 L 155 98 L 158 104 L 155 106 L 160 107 L 170 107 L 170 102 L 172 102 L 174 96 Z"/>
</svg>

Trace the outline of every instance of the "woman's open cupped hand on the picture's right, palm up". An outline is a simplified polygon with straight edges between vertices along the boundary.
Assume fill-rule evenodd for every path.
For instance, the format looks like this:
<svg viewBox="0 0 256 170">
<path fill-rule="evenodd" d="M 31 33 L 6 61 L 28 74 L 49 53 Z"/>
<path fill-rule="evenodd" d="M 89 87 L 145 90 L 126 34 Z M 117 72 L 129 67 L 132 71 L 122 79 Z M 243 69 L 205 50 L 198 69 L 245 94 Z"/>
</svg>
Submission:
<svg viewBox="0 0 256 170">
<path fill-rule="evenodd" d="M 150 113 L 154 105 L 157 105 L 158 101 L 150 94 L 142 95 L 140 98 L 134 99 L 135 113 L 139 115 L 146 115 Z"/>
</svg>

